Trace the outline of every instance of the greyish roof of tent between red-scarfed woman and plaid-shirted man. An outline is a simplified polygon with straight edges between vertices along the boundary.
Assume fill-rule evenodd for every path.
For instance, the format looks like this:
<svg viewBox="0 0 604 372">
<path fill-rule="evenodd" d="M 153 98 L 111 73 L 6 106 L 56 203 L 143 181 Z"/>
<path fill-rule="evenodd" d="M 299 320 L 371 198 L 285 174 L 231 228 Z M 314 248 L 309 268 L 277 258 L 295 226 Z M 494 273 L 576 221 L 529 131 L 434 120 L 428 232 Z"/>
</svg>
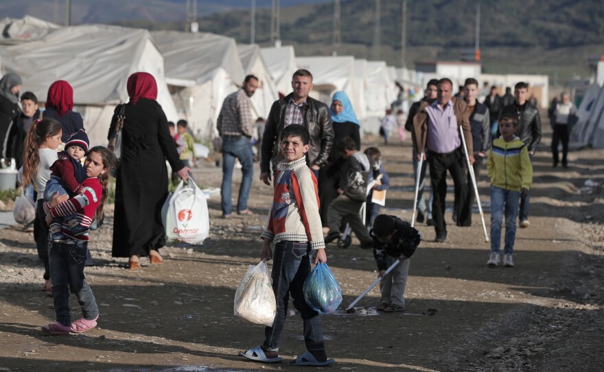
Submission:
<svg viewBox="0 0 604 372">
<path fill-rule="evenodd" d="M 168 84 L 200 85 L 211 80 L 218 69 L 224 69 L 233 82 L 242 82 L 244 69 L 233 38 L 205 32 L 152 32 L 165 60 Z"/>
</svg>

